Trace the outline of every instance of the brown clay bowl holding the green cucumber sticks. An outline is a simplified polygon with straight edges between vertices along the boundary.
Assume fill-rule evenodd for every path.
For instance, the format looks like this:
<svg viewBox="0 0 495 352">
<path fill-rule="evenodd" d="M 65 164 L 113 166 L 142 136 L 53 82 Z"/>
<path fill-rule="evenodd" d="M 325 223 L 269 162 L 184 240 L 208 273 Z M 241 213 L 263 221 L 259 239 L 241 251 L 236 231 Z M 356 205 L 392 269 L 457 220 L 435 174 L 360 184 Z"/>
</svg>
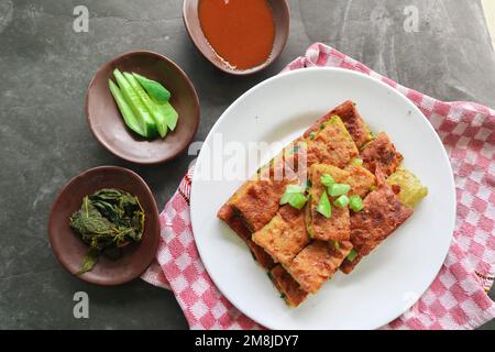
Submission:
<svg viewBox="0 0 495 352">
<path fill-rule="evenodd" d="M 179 120 L 165 139 L 145 140 L 125 125 L 108 88 L 113 70 L 133 72 L 160 81 L 170 92 Z M 92 134 L 112 154 L 136 164 L 158 164 L 180 154 L 193 141 L 199 124 L 196 90 L 175 63 L 153 52 L 131 52 L 105 64 L 96 74 L 86 97 L 86 116 Z"/>
</svg>

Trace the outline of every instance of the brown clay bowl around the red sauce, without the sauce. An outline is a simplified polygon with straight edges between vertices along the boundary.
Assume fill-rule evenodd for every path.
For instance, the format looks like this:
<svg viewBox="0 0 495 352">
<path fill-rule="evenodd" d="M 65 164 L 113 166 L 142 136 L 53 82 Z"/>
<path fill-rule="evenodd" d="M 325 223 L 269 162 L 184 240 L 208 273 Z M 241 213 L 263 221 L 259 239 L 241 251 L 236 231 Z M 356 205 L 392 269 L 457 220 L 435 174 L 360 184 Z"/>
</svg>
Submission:
<svg viewBox="0 0 495 352">
<path fill-rule="evenodd" d="M 260 66 L 250 69 L 235 69 L 227 65 L 213 51 L 201 30 L 198 14 L 198 3 L 200 0 L 184 0 L 183 19 L 199 52 L 219 69 L 232 75 L 251 75 L 268 67 L 284 51 L 289 34 L 290 13 L 287 0 L 267 0 L 272 7 L 275 19 L 275 42 L 268 59 Z"/>
</svg>

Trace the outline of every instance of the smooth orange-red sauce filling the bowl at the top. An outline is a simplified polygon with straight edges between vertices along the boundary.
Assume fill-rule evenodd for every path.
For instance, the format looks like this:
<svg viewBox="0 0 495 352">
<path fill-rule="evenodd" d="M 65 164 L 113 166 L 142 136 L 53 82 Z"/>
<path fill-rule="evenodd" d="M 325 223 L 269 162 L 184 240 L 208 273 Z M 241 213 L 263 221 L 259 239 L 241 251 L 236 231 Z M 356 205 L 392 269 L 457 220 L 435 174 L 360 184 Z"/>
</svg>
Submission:
<svg viewBox="0 0 495 352">
<path fill-rule="evenodd" d="M 199 21 L 215 52 L 237 69 L 262 65 L 275 40 L 267 0 L 200 0 Z"/>
</svg>

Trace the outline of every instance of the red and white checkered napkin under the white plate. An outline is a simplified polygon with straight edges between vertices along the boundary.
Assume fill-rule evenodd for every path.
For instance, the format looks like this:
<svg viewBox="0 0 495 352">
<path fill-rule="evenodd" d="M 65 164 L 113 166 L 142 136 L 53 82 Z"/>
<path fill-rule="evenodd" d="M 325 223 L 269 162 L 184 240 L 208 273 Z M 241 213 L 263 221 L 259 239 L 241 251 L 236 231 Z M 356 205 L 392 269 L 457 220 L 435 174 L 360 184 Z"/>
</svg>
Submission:
<svg viewBox="0 0 495 352">
<path fill-rule="evenodd" d="M 451 158 L 458 195 L 452 246 L 427 293 L 384 329 L 474 329 L 492 320 L 495 304 L 487 290 L 495 274 L 495 111 L 427 97 L 320 43 L 284 72 L 315 66 L 358 70 L 407 96 L 430 120 Z M 220 294 L 205 271 L 189 218 L 191 176 L 189 170 L 160 217 L 156 263 L 143 278 L 172 288 L 191 329 L 261 329 Z"/>
</svg>

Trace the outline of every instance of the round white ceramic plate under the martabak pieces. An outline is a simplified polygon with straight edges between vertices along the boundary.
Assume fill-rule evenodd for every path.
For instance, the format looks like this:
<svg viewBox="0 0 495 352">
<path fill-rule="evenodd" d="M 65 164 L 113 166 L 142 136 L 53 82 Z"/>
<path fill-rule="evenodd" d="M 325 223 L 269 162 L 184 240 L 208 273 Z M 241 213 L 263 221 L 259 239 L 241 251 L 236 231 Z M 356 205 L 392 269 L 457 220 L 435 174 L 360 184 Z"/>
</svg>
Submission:
<svg viewBox="0 0 495 352">
<path fill-rule="evenodd" d="M 242 180 L 218 178 L 221 162 L 227 164 L 229 156 L 215 148 L 215 140 L 218 143 L 221 135 L 223 143 L 286 144 L 348 99 L 358 103 L 373 131 L 388 133 L 404 154 L 405 166 L 420 177 L 430 194 L 411 219 L 351 275 L 338 273 L 318 295 L 292 309 L 243 242 L 216 217 Z M 274 155 L 264 155 L 264 160 Z M 217 180 L 207 175 L 213 170 Z M 385 84 L 344 69 L 295 70 L 244 94 L 208 135 L 193 182 L 193 229 L 209 275 L 235 307 L 270 329 L 376 329 L 391 322 L 409 309 L 437 276 L 451 243 L 454 219 L 452 169 L 425 116 Z"/>
</svg>

